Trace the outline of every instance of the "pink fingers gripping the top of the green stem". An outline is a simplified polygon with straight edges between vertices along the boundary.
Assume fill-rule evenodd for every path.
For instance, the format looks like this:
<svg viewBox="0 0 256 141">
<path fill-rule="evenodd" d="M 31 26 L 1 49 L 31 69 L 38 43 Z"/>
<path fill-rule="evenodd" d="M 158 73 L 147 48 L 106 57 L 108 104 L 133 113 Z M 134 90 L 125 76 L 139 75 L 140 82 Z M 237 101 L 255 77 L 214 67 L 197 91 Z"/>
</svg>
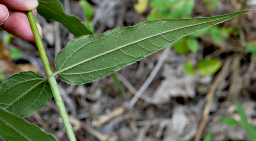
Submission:
<svg viewBox="0 0 256 141">
<path fill-rule="evenodd" d="M 0 28 L 24 40 L 35 42 L 26 11 L 37 15 L 38 0 L 0 0 Z M 37 23 L 40 36 L 42 29 Z"/>
</svg>

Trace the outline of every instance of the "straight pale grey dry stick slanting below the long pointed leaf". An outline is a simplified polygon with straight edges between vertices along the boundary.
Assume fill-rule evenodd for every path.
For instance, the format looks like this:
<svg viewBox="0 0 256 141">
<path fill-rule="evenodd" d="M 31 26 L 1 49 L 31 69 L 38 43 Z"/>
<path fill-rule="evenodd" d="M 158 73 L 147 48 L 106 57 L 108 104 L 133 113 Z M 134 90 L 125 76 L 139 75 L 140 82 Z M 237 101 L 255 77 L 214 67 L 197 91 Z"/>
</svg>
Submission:
<svg viewBox="0 0 256 141">
<path fill-rule="evenodd" d="M 165 61 L 167 55 L 169 54 L 170 49 L 172 48 L 172 45 L 166 47 L 164 49 L 163 54 L 161 55 L 161 58 L 159 59 L 157 65 L 155 66 L 155 68 L 153 69 L 153 71 L 151 72 L 151 74 L 149 75 L 149 77 L 147 78 L 147 80 L 143 83 L 143 85 L 140 87 L 140 89 L 138 90 L 138 92 L 134 95 L 133 99 L 130 101 L 130 103 L 128 104 L 128 109 L 132 109 L 134 107 L 134 105 L 136 104 L 136 102 L 138 101 L 138 98 L 146 91 L 146 89 L 148 88 L 148 86 L 151 84 L 151 82 L 153 81 L 153 79 L 156 77 L 156 75 L 158 74 L 158 71 L 160 70 L 163 62 Z"/>
</svg>

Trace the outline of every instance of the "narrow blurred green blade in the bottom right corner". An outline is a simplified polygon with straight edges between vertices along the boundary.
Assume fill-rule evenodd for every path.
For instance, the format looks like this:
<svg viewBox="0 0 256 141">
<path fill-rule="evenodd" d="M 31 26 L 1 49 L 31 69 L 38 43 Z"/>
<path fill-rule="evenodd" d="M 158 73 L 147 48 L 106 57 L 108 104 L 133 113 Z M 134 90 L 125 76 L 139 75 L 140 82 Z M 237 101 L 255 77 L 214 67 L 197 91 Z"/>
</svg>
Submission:
<svg viewBox="0 0 256 141">
<path fill-rule="evenodd" d="M 248 123 L 247 118 L 246 118 L 246 114 L 240 104 L 239 101 L 236 100 L 236 108 L 237 108 L 237 112 L 240 116 L 240 123 L 241 126 L 244 128 L 246 135 L 248 137 L 248 139 L 250 141 L 255 141 L 256 139 L 256 127 L 254 125 L 251 125 Z"/>
</svg>

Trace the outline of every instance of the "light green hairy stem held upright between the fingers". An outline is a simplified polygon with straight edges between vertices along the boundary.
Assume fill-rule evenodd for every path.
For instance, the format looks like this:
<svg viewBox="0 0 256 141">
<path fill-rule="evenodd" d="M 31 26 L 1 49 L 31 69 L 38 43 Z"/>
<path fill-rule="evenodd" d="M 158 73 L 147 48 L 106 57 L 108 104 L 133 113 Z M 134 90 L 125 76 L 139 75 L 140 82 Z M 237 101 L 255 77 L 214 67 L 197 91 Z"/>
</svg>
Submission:
<svg viewBox="0 0 256 141">
<path fill-rule="evenodd" d="M 41 59 L 42 59 L 44 69 L 46 71 L 46 75 L 48 77 L 48 81 L 49 81 L 51 89 L 52 89 L 54 99 L 55 99 L 57 107 L 59 109 L 59 114 L 60 114 L 61 119 L 63 121 L 63 124 L 66 128 L 66 132 L 67 132 L 69 141 L 77 141 L 76 137 L 75 137 L 75 134 L 74 134 L 74 131 L 73 131 L 73 128 L 72 128 L 72 125 L 70 124 L 68 114 L 67 114 L 67 111 L 65 109 L 65 105 L 64 105 L 63 100 L 61 98 L 61 94 L 59 92 L 59 86 L 57 84 L 56 78 L 55 78 L 55 76 L 52 76 L 53 71 L 51 69 L 51 66 L 50 66 L 50 63 L 48 61 L 46 52 L 44 50 L 43 43 L 42 43 L 39 31 L 38 31 L 38 27 L 37 27 L 37 24 L 36 24 L 36 21 L 35 21 L 35 18 L 33 16 L 32 11 L 28 11 L 27 16 L 28 16 L 28 19 L 29 19 L 29 22 L 30 22 L 31 29 L 34 33 L 36 43 L 38 45 L 39 53 L 40 53 L 40 56 L 41 56 Z"/>
</svg>

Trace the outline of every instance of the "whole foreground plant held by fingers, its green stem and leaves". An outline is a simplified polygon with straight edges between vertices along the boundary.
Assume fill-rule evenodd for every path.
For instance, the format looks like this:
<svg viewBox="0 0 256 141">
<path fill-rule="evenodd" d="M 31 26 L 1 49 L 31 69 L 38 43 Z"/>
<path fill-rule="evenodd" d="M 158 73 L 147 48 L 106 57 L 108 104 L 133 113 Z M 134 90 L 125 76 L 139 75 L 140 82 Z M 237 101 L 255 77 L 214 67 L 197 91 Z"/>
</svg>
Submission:
<svg viewBox="0 0 256 141">
<path fill-rule="evenodd" d="M 39 0 L 39 2 L 38 11 L 40 15 L 47 19 L 54 19 L 61 22 L 76 36 L 92 34 L 90 30 L 82 26 L 83 24 L 81 24 L 77 17 L 65 14 L 57 0 Z M 52 7 L 55 9 L 53 10 Z M 37 126 L 30 125 L 22 119 L 22 117 L 39 110 L 52 98 L 51 87 L 67 134 L 71 141 L 75 141 L 76 139 L 74 138 L 74 133 L 72 133 L 72 128 L 70 128 L 67 113 L 63 107 L 64 105 L 56 83 L 55 77 L 57 75 L 70 84 L 91 82 L 106 75 L 113 74 L 114 71 L 119 70 L 121 67 L 143 59 L 177 41 L 177 39 L 187 35 L 188 32 L 191 33 L 212 26 L 211 21 L 218 24 L 244 12 L 247 11 L 200 19 L 150 21 L 140 23 L 134 27 L 117 28 L 112 31 L 107 31 L 104 34 L 81 36 L 69 42 L 69 44 L 59 52 L 55 61 L 57 71 L 54 74 L 51 71 L 40 37 L 37 36 L 39 35 L 37 34 L 38 31 L 33 29 L 48 78 L 43 78 L 33 72 L 21 72 L 7 78 L 2 83 L 0 89 L 0 107 L 1 113 L 3 114 L 1 114 L 0 119 L 1 131 L 3 132 L 1 132 L 1 137 L 7 141 L 13 141 L 17 136 L 20 137 L 19 141 L 41 141 L 42 138 L 38 139 L 39 135 L 45 137 L 43 138 L 45 141 L 56 140 L 53 136 L 42 132 Z M 32 13 L 28 12 L 28 16 L 32 28 L 34 28 L 35 21 L 33 20 Z M 70 24 L 71 20 L 73 22 L 72 24 Z M 192 27 L 189 23 L 193 21 L 197 22 L 197 24 L 192 24 Z M 176 22 L 176 24 L 173 24 L 173 22 Z M 172 27 L 167 26 L 166 23 L 172 23 Z M 144 28 L 144 26 L 146 28 Z M 160 26 L 165 26 L 165 28 L 163 28 L 164 30 L 157 31 L 157 33 L 148 30 L 159 28 Z M 183 28 L 188 32 L 183 32 Z M 138 31 L 139 34 L 134 34 L 134 32 Z M 173 33 L 177 33 L 177 36 L 173 36 Z M 131 38 L 132 42 L 128 41 L 127 38 Z M 161 42 L 159 42 L 159 40 Z M 113 42 L 116 42 L 116 47 L 113 47 Z M 148 46 L 148 48 L 144 46 Z M 104 50 L 102 50 L 102 47 Z M 90 52 L 87 52 L 88 50 L 90 50 Z M 134 50 L 137 51 L 135 52 Z M 17 91 L 17 89 L 20 91 Z M 36 92 L 39 92 L 39 95 L 34 95 Z M 31 134 L 31 130 L 20 129 L 20 126 L 15 126 L 17 124 L 12 121 L 22 123 L 23 127 L 33 130 L 35 134 Z"/>
</svg>

